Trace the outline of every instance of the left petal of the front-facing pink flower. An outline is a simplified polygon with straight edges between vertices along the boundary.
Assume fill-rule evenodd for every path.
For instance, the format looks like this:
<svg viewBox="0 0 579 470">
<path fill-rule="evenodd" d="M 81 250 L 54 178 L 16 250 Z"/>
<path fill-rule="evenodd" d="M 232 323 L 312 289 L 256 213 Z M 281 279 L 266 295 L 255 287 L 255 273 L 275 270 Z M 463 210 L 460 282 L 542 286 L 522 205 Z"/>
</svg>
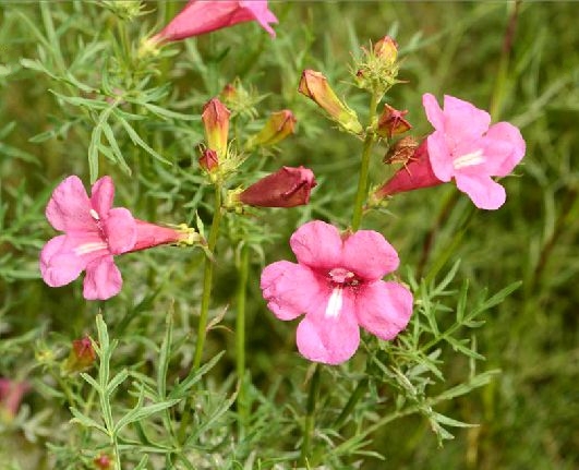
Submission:
<svg viewBox="0 0 579 470">
<path fill-rule="evenodd" d="M 293 320 L 327 302 L 329 288 L 307 267 L 278 261 L 265 267 L 261 288 L 267 308 L 279 320 Z"/>
</svg>

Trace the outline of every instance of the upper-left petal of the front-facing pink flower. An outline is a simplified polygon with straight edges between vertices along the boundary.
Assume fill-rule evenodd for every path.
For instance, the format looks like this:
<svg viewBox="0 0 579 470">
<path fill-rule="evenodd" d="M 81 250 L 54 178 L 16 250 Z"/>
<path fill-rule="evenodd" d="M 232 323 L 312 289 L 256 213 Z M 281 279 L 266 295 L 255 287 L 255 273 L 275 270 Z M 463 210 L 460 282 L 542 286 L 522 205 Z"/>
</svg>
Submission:
<svg viewBox="0 0 579 470">
<path fill-rule="evenodd" d="M 314 220 L 301 226 L 290 238 L 298 262 L 316 270 L 339 266 L 342 241 L 333 225 Z"/>
</svg>

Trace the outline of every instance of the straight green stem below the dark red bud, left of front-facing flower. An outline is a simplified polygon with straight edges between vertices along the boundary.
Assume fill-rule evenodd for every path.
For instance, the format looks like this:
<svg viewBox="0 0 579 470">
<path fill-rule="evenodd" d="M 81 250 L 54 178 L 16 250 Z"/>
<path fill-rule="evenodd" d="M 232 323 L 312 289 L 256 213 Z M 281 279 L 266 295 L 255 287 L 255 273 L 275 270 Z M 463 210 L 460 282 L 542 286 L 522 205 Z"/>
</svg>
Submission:
<svg viewBox="0 0 579 470">
<path fill-rule="evenodd" d="M 250 250 L 241 246 L 238 286 L 238 315 L 236 318 L 236 365 L 239 381 L 238 425 L 239 434 L 243 435 L 248 424 L 248 390 L 245 387 L 245 300 L 248 274 L 250 268 Z"/>
</svg>

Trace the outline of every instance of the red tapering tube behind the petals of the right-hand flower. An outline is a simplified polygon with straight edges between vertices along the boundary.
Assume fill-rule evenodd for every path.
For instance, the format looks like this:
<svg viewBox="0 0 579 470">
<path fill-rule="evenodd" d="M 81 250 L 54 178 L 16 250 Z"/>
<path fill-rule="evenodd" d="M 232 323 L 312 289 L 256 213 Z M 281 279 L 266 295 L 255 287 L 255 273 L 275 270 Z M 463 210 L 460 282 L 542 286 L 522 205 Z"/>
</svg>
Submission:
<svg viewBox="0 0 579 470">
<path fill-rule="evenodd" d="M 426 141 L 424 141 L 417 148 L 410 162 L 400 168 L 388 181 L 378 188 L 374 192 L 372 200 L 379 201 L 387 195 L 435 186 L 442 183 L 443 181 L 436 178 L 432 170 Z"/>
</svg>

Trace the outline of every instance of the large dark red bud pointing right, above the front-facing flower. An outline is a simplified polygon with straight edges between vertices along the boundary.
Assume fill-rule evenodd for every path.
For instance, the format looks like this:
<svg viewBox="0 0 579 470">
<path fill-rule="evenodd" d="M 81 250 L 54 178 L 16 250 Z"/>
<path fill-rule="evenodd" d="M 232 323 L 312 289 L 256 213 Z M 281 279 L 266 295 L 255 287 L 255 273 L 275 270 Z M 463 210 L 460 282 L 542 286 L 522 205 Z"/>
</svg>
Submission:
<svg viewBox="0 0 579 470">
<path fill-rule="evenodd" d="M 258 207 L 294 207 L 307 204 L 316 185 L 309 168 L 282 167 L 238 195 L 243 204 Z"/>
</svg>

